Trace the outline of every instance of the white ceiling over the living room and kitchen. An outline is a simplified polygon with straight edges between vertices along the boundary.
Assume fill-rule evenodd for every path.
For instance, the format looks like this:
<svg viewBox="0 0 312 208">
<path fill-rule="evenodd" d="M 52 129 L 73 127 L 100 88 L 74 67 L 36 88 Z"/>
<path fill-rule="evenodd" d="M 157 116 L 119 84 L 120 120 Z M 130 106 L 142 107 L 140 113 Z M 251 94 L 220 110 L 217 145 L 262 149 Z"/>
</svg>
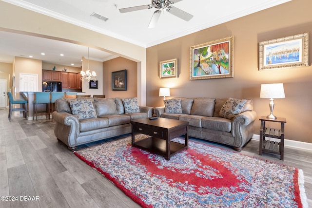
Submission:
<svg viewBox="0 0 312 208">
<path fill-rule="evenodd" d="M 150 47 L 174 38 L 179 38 L 205 28 L 237 19 L 290 0 L 182 0 L 175 7 L 194 15 L 190 21 L 162 11 L 155 28 L 148 28 L 156 10 L 145 9 L 120 13 L 118 9 L 151 4 L 151 0 L 2 0 L 41 14 L 122 39 L 142 47 Z M 172 0 L 174 1 L 174 0 Z M 90 15 L 98 13 L 103 21 Z M 87 57 L 88 49 L 58 40 L 30 37 L 0 32 L 0 62 L 12 62 L 14 56 L 29 55 L 43 62 L 60 65 L 81 66 L 81 57 Z M 60 51 L 59 49 L 63 51 Z M 44 52 L 46 55 L 41 56 Z M 64 57 L 59 54 L 63 53 Z M 90 49 L 90 59 L 107 60 L 114 56 Z M 57 62 L 56 62 L 57 61 Z"/>
</svg>

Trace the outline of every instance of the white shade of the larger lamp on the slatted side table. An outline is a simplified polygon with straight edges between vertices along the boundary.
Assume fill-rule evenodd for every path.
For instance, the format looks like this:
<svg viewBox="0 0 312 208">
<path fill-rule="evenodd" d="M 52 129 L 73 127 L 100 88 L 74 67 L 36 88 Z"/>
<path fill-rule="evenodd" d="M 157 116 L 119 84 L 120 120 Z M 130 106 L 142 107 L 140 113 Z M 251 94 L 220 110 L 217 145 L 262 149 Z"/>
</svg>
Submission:
<svg viewBox="0 0 312 208">
<path fill-rule="evenodd" d="M 261 84 L 260 98 L 284 98 L 283 83 Z"/>
</svg>

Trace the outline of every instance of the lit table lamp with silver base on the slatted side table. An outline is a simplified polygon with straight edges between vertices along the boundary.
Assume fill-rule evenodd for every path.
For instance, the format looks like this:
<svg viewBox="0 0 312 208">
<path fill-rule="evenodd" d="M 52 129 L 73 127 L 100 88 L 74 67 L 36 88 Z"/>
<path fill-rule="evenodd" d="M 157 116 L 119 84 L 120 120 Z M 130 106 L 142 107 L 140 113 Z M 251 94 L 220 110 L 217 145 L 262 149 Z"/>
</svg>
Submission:
<svg viewBox="0 0 312 208">
<path fill-rule="evenodd" d="M 270 98 L 270 115 L 267 118 L 276 119 L 273 115 L 274 100 L 273 98 L 285 98 L 283 83 L 261 84 L 260 98 Z"/>
</svg>

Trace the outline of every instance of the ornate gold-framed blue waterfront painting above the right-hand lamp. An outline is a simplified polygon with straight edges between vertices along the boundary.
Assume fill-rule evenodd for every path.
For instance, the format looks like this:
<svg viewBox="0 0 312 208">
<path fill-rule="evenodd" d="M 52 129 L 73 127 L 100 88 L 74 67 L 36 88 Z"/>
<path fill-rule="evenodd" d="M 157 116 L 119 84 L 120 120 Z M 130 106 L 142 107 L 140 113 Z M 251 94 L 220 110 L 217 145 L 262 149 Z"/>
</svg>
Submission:
<svg viewBox="0 0 312 208">
<path fill-rule="evenodd" d="M 259 70 L 309 66 L 309 33 L 259 42 Z"/>
</svg>

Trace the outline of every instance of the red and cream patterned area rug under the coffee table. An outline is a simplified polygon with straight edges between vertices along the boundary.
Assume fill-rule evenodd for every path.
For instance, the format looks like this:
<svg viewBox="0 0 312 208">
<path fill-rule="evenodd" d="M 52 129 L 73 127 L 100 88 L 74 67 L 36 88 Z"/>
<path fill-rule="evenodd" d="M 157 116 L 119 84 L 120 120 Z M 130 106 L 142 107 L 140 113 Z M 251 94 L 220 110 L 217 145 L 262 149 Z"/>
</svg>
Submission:
<svg viewBox="0 0 312 208">
<path fill-rule="evenodd" d="M 131 147 L 131 136 L 75 154 L 146 208 L 308 207 L 302 170 L 200 142 L 170 161 Z"/>
</svg>

